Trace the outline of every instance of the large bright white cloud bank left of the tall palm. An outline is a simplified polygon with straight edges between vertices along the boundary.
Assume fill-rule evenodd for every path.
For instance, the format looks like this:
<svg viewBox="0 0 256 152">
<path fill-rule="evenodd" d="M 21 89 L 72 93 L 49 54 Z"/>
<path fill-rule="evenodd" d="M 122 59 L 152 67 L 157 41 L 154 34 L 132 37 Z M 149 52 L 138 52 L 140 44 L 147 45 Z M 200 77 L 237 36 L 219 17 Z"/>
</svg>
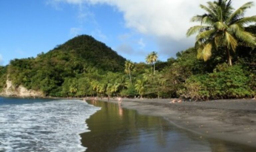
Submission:
<svg viewBox="0 0 256 152">
<path fill-rule="evenodd" d="M 193 45 L 193 37 L 189 39 L 186 37 L 186 31 L 195 24 L 191 23 L 190 19 L 197 14 L 203 14 L 204 11 L 199 8 L 199 4 L 206 5 L 208 1 L 212 0 L 52 0 L 51 2 L 78 6 L 82 4 L 113 6 L 123 13 L 127 28 L 156 39 L 161 56 L 161 52 L 170 50 L 170 54 L 176 54 Z M 256 0 L 250 1 L 256 5 Z M 233 7 L 237 9 L 248 0 L 232 2 Z M 245 15 L 255 15 L 255 7 L 249 9 Z M 141 44 L 143 47 L 143 43 Z"/>
</svg>

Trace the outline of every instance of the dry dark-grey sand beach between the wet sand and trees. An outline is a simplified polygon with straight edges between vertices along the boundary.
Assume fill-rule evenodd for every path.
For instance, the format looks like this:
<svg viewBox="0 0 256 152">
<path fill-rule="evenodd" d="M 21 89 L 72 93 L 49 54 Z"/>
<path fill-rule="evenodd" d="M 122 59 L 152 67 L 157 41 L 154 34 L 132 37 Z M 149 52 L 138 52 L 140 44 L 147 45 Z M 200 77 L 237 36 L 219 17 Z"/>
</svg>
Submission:
<svg viewBox="0 0 256 152">
<path fill-rule="evenodd" d="M 117 103 L 117 100 L 110 102 Z M 217 138 L 256 147 L 256 100 L 169 102 L 170 99 L 123 99 L 122 107 L 145 115 L 164 117 L 175 126 L 197 133 L 202 138 Z"/>
</svg>

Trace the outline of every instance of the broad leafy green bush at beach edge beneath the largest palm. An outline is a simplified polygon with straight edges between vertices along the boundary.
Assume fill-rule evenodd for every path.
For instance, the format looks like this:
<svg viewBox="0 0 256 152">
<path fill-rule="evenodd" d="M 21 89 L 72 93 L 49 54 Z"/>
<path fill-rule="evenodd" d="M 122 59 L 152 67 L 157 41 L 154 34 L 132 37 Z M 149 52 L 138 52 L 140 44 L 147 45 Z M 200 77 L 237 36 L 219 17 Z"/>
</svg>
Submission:
<svg viewBox="0 0 256 152">
<path fill-rule="evenodd" d="M 192 99 L 222 99 L 252 97 L 255 92 L 248 85 L 251 78 L 242 66 L 218 65 L 213 73 L 193 75 L 187 79 L 180 95 Z"/>
</svg>

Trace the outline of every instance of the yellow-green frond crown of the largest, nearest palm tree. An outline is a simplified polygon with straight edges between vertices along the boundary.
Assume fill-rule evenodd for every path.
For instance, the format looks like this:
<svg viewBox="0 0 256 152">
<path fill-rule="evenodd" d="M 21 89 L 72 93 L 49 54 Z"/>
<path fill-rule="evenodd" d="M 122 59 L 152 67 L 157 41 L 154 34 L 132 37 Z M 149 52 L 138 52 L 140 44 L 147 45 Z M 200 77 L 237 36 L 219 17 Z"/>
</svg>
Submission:
<svg viewBox="0 0 256 152">
<path fill-rule="evenodd" d="M 245 25 L 256 22 L 256 16 L 244 17 L 245 11 L 253 6 L 253 2 L 245 3 L 236 11 L 233 11 L 231 0 L 217 0 L 207 4 L 208 6 L 200 5 L 206 14 L 191 19 L 201 25 L 191 27 L 187 36 L 198 33 L 195 47 L 199 59 L 206 61 L 213 50 L 224 47 L 228 63 L 232 65 L 230 50 L 235 52 L 238 41 L 248 46 L 256 46 L 255 36 L 245 31 Z"/>
</svg>

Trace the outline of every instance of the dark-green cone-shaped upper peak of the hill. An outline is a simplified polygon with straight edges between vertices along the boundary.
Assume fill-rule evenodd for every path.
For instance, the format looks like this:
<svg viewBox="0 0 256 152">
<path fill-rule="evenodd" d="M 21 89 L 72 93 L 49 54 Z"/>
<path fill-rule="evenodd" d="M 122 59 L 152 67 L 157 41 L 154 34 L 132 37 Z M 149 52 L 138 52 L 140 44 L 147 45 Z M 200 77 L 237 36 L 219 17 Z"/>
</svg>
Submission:
<svg viewBox="0 0 256 152">
<path fill-rule="evenodd" d="M 81 64 L 86 63 L 87 66 L 112 72 L 123 71 L 125 62 L 125 58 L 88 35 L 77 36 L 67 41 L 47 53 L 46 57 L 59 57 L 65 61 L 73 58 L 81 61 Z"/>
</svg>

